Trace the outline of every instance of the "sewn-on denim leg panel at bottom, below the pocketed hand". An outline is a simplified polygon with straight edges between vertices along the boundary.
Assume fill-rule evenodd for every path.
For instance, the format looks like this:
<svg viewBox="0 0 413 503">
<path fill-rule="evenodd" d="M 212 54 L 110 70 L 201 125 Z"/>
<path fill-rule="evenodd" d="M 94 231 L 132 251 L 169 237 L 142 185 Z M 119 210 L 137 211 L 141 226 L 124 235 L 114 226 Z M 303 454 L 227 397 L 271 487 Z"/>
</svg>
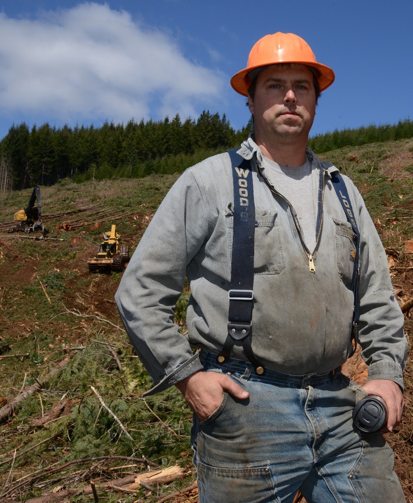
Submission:
<svg viewBox="0 0 413 503">
<path fill-rule="evenodd" d="M 235 464 L 235 461 L 234 461 Z M 219 468 L 198 462 L 199 503 L 260 503 L 275 501 L 274 481 L 267 466 Z"/>
</svg>

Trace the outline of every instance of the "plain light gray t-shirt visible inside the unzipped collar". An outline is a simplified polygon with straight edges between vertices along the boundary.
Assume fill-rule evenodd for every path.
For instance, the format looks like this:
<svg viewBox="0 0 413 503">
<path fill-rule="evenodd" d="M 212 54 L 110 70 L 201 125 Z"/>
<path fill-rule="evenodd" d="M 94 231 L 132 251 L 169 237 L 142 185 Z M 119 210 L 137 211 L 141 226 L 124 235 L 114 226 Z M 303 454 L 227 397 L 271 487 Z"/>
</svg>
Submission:
<svg viewBox="0 0 413 503">
<path fill-rule="evenodd" d="M 289 167 L 264 157 L 264 168 L 268 180 L 293 206 L 310 253 L 315 247 L 315 212 L 311 163 L 306 159 L 302 166 Z"/>
</svg>

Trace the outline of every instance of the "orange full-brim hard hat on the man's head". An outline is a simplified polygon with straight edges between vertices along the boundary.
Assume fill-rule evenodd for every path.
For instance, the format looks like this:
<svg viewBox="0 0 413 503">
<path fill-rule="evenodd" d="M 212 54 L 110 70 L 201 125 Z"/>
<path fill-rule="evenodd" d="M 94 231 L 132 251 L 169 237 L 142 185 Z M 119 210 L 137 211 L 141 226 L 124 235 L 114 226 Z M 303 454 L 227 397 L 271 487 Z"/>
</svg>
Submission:
<svg viewBox="0 0 413 503">
<path fill-rule="evenodd" d="M 251 49 L 246 68 L 231 78 L 231 86 L 241 94 L 247 96 L 251 86 L 248 74 L 260 66 L 277 63 L 297 63 L 312 66 L 317 70 L 316 78 L 320 91 L 324 91 L 334 82 L 334 71 L 321 63 L 317 63 L 314 53 L 305 40 L 294 33 L 277 32 L 261 38 Z"/>
</svg>

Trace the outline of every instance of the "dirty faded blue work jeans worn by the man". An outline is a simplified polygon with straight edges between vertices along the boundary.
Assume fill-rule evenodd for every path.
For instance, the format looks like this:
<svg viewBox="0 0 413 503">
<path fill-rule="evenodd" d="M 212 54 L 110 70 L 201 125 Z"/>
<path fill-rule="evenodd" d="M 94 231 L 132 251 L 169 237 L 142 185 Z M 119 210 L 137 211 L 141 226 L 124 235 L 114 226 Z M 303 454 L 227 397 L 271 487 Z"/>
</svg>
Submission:
<svg viewBox="0 0 413 503">
<path fill-rule="evenodd" d="M 338 371 L 290 376 L 201 353 L 204 370 L 227 374 L 250 392 L 224 394 L 192 444 L 200 503 L 405 503 L 393 453 L 380 433 L 353 427 L 360 386 Z"/>
</svg>

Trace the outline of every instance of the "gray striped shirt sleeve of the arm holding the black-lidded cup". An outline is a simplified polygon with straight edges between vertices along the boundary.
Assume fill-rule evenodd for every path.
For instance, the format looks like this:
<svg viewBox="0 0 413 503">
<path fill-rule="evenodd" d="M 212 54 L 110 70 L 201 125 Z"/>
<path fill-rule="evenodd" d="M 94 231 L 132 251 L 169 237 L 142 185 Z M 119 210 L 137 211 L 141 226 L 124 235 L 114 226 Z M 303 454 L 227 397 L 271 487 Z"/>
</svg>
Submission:
<svg viewBox="0 0 413 503">
<path fill-rule="evenodd" d="M 355 189 L 360 227 L 359 343 L 368 369 L 368 380 L 389 379 L 403 388 L 407 340 L 404 317 L 394 296 L 384 247 Z"/>
</svg>

